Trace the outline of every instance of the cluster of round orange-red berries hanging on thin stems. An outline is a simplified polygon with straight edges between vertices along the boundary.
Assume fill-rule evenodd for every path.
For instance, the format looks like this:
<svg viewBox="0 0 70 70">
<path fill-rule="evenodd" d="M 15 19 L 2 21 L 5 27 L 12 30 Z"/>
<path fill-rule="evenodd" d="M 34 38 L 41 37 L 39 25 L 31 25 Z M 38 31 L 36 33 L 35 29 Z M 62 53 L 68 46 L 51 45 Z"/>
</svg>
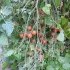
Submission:
<svg viewBox="0 0 70 70">
<path fill-rule="evenodd" d="M 34 24 L 33 25 L 28 25 L 26 32 L 21 33 L 20 34 L 20 38 L 27 38 L 30 39 L 30 43 L 32 44 L 36 44 L 37 41 L 39 40 L 39 42 L 42 45 L 47 45 L 49 44 L 50 40 L 53 39 L 52 41 L 55 43 L 56 42 L 56 36 L 58 33 L 60 33 L 61 28 L 57 28 L 56 25 L 52 25 L 52 26 L 46 26 L 45 21 L 44 21 L 44 16 L 45 13 L 42 10 L 39 10 L 39 14 L 41 14 L 42 18 L 39 21 L 39 26 L 37 26 L 38 28 L 34 28 Z M 46 27 L 48 27 L 46 29 Z M 44 33 L 45 31 L 45 33 Z M 47 33 L 49 32 L 49 33 Z M 50 40 L 49 40 L 50 39 Z M 41 52 L 40 47 L 37 47 L 37 52 Z M 40 60 L 43 59 L 43 56 L 40 56 Z"/>
</svg>

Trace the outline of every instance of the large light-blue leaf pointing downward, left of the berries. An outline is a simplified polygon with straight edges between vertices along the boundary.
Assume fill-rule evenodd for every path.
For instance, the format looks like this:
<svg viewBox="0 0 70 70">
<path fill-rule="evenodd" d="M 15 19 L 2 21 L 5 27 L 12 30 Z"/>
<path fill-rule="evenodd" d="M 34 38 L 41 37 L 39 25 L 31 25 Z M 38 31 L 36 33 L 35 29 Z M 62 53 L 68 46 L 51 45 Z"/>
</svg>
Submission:
<svg viewBox="0 0 70 70">
<path fill-rule="evenodd" d="M 14 30 L 14 25 L 11 20 L 6 21 L 6 24 L 2 24 L 2 27 L 4 30 L 6 30 L 8 36 L 10 36 Z"/>
</svg>

